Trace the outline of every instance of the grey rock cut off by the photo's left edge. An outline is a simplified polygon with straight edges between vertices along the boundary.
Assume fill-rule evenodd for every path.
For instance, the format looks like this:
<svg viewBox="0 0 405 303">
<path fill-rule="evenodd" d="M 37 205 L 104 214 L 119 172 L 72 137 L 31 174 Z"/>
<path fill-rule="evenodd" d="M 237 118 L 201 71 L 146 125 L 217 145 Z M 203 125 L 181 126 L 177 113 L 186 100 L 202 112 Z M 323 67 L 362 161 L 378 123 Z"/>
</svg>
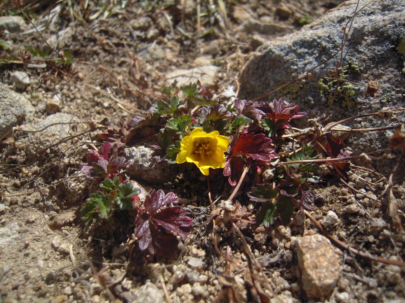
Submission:
<svg viewBox="0 0 405 303">
<path fill-rule="evenodd" d="M 22 120 L 32 120 L 34 112 L 28 99 L 0 82 L 0 138 Z"/>
</svg>

